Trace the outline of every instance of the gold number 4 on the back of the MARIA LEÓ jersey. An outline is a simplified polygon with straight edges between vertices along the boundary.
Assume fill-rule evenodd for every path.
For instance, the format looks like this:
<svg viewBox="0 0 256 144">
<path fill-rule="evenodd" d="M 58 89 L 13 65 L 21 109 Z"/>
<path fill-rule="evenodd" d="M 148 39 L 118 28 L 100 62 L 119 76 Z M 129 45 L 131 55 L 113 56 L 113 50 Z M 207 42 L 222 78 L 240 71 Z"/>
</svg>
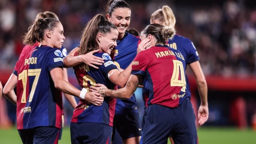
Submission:
<svg viewBox="0 0 256 144">
<path fill-rule="evenodd" d="M 180 75 L 180 80 L 179 80 Z M 180 60 L 173 60 L 173 73 L 171 78 L 171 86 L 181 86 L 182 92 L 186 92 L 186 78 L 183 64 Z"/>
</svg>

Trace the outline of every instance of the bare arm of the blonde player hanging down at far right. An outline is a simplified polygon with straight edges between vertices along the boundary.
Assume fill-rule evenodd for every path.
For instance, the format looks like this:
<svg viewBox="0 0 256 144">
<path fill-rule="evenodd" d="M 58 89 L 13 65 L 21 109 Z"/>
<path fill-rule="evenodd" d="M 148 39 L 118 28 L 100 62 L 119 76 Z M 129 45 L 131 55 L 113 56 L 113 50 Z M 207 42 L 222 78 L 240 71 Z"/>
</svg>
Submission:
<svg viewBox="0 0 256 144">
<path fill-rule="evenodd" d="M 207 83 L 199 61 L 192 62 L 189 64 L 189 66 L 196 77 L 196 84 L 201 99 L 201 105 L 198 109 L 198 123 L 200 125 L 203 125 L 207 121 L 209 116 L 207 100 Z"/>
</svg>

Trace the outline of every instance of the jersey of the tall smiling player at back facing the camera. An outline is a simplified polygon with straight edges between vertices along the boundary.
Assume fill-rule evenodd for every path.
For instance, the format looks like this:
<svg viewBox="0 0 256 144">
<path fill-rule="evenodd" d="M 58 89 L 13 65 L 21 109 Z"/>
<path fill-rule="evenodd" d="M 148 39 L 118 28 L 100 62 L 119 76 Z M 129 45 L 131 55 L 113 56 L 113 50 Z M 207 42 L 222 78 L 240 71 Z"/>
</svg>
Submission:
<svg viewBox="0 0 256 144">
<path fill-rule="evenodd" d="M 117 46 L 111 52 L 112 59 L 116 66 L 126 69 L 137 55 L 140 38 L 125 32 L 124 37 L 117 40 L 116 43 Z M 137 102 L 134 94 L 128 100 L 116 100 L 116 115 L 137 112 Z"/>
</svg>

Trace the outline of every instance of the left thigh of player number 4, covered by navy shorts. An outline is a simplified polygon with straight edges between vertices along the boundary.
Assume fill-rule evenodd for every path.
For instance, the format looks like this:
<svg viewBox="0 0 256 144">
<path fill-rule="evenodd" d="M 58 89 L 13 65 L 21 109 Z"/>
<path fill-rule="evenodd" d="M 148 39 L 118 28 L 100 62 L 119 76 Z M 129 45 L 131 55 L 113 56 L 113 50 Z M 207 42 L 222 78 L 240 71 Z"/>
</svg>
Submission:
<svg viewBox="0 0 256 144">
<path fill-rule="evenodd" d="M 172 110 L 154 104 L 146 108 L 144 117 L 142 143 L 166 143 L 172 131 Z M 140 142 L 141 143 L 141 142 Z"/>
</svg>

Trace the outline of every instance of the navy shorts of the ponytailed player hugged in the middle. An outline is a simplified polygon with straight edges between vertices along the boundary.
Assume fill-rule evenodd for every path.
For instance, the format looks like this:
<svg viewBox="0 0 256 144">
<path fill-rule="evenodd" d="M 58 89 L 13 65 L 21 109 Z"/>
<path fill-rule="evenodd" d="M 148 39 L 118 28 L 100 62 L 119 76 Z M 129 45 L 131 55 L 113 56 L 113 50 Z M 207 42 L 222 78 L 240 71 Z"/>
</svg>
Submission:
<svg viewBox="0 0 256 144">
<path fill-rule="evenodd" d="M 113 127 L 99 123 L 71 123 L 72 144 L 100 143 L 110 144 Z"/>
</svg>

